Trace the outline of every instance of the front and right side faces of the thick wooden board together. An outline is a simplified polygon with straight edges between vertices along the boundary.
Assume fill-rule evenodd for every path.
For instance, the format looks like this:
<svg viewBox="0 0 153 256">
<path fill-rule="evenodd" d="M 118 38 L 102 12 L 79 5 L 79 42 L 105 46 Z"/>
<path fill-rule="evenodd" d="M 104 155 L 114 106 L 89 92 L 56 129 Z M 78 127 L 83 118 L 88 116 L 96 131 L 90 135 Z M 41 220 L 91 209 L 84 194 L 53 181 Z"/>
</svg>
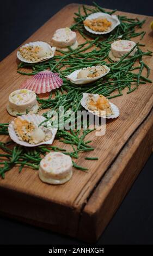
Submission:
<svg viewBox="0 0 153 256">
<path fill-rule="evenodd" d="M 10 190 L 0 187 L 0 193 L 3 194 L 0 200 L 0 214 L 37 227 L 77 237 L 86 242 L 95 242 L 148 160 L 152 152 L 152 132 L 153 110 L 103 175 L 81 211 L 47 202 L 41 198 L 35 202 L 35 198 L 30 195 L 17 193 L 17 191 L 11 193 Z M 129 148 L 130 154 L 129 152 L 127 154 Z M 140 154 L 143 157 L 140 158 Z M 133 176 L 131 176 L 130 170 L 132 172 L 135 170 Z M 50 204 L 49 207 L 48 204 Z M 111 208 L 110 205 L 112 205 Z M 30 209 L 30 211 L 26 209 Z M 48 209 L 50 210 L 48 211 Z"/>
</svg>

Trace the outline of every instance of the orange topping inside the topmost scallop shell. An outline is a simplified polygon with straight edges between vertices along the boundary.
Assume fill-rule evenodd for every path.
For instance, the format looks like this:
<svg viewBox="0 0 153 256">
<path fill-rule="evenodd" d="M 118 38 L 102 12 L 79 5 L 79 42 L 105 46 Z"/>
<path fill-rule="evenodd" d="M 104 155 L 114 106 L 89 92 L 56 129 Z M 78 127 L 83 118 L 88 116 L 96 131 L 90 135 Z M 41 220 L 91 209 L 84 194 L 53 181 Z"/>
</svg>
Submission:
<svg viewBox="0 0 153 256">
<path fill-rule="evenodd" d="M 111 27 L 112 22 L 108 21 L 106 18 L 97 18 L 93 20 L 85 20 L 83 21 L 84 26 L 89 27 L 93 31 L 98 31 L 98 32 L 105 32 L 108 31 L 108 29 Z"/>
</svg>

